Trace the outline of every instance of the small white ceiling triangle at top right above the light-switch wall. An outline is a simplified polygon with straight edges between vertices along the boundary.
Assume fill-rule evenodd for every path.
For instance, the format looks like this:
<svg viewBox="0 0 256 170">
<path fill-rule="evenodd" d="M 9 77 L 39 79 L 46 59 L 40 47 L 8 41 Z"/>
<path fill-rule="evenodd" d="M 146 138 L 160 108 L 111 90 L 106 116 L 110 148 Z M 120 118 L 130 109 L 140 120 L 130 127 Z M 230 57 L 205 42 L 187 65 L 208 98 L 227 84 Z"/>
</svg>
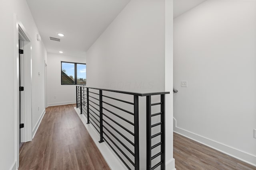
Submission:
<svg viewBox="0 0 256 170">
<path fill-rule="evenodd" d="M 174 0 L 173 18 L 176 18 L 206 0 Z"/>
</svg>

